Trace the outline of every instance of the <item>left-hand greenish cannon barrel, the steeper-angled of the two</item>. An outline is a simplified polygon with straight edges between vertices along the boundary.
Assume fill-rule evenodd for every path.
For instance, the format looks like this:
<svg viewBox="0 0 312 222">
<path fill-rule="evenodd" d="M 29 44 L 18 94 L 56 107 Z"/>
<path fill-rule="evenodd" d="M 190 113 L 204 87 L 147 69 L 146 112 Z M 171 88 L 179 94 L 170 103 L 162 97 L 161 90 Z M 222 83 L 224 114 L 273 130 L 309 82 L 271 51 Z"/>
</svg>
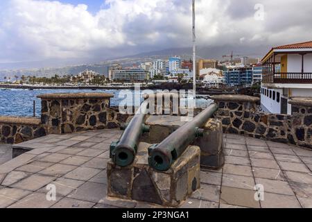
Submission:
<svg viewBox="0 0 312 222">
<path fill-rule="evenodd" d="M 139 138 L 142 133 L 149 130 L 148 126 L 144 125 L 147 107 L 148 102 L 141 104 L 130 123 L 121 127 L 121 129 L 125 128 L 125 131 L 119 141 L 112 142 L 110 145 L 110 158 L 119 167 L 127 167 L 132 164 L 137 154 Z"/>
</svg>

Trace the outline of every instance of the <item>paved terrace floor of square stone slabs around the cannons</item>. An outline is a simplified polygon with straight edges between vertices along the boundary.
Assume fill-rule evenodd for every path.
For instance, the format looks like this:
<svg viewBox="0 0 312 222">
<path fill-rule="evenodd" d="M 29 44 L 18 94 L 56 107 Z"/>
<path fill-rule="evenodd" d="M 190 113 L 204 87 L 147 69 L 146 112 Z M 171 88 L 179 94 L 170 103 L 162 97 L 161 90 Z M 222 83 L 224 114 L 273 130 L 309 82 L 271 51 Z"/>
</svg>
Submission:
<svg viewBox="0 0 312 222">
<path fill-rule="evenodd" d="M 49 135 L 35 148 L 0 166 L 0 207 L 156 207 L 106 198 L 109 146 L 119 130 Z M 312 151 L 225 135 L 226 164 L 201 171 L 201 189 L 182 207 L 312 207 Z M 56 201 L 46 200 L 54 184 Z M 263 185 L 264 200 L 254 200 Z"/>
</svg>

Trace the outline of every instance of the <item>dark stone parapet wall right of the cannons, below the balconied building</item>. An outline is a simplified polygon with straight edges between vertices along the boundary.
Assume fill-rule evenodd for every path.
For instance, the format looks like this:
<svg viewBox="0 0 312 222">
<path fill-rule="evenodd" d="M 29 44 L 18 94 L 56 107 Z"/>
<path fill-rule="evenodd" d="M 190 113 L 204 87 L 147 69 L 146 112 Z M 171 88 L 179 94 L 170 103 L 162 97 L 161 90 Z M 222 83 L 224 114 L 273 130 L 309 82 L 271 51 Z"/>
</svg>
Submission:
<svg viewBox="0 0 312 222">
<path fill-rule="evenodd" d="M 241 99 L 239 99 L 241 97 Z M 273 142 L 312 148 L 312 103 L 293 99 L 293 114 L 257 112 L 259 101 L 251 96 L 213 96 L 219 105 L 215 117 L 222 121 L 223 132 L 267 139 Z"/>
</svg>

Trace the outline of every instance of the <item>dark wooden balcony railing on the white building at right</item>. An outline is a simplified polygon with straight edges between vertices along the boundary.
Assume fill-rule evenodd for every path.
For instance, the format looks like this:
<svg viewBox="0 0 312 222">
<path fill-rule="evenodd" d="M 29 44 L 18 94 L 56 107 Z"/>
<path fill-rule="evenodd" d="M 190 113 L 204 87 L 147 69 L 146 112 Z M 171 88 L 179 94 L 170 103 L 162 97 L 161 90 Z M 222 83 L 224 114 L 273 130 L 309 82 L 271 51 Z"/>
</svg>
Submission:
<svg viewBox="0 0 312 222">
<path fill-rule="evenodd" d="M 312 73 L 264 74 L 263 83 L 312 83 Z"/>
</svg>

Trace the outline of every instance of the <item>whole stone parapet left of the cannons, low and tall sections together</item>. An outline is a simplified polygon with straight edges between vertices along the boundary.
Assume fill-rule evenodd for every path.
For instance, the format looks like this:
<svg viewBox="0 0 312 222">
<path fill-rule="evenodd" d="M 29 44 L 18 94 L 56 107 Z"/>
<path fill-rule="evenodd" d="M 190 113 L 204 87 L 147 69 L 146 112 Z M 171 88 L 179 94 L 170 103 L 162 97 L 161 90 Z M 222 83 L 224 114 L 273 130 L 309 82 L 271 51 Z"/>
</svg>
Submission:
<svg viewBox="0 0 312 222">
<path fill-rule="evenodd" d="M 19 144 L 49 134 L 119 128 L 130 115 L 110 107 L 112 94 L 44 94 L 40 118 L 0 117 L 0 142 Z"/>
</svg>

